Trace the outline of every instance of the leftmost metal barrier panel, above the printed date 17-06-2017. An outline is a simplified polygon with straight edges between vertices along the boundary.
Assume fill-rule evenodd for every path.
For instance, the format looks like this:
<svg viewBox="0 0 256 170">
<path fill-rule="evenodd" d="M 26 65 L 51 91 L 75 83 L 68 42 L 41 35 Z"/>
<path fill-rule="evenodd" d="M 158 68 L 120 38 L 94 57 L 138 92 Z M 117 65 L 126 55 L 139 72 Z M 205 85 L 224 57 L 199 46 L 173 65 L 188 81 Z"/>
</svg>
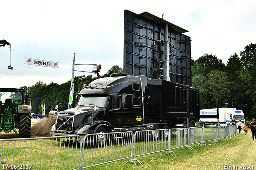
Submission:
<svg viewBox="0 0 256 170">
<path fill-rule="evenodd" d="M 82 138 L 78 135 L 0 139 L 1 166 L 4 169 L 79 169 L 82 148 L 79 140 Z"/>
</svg>

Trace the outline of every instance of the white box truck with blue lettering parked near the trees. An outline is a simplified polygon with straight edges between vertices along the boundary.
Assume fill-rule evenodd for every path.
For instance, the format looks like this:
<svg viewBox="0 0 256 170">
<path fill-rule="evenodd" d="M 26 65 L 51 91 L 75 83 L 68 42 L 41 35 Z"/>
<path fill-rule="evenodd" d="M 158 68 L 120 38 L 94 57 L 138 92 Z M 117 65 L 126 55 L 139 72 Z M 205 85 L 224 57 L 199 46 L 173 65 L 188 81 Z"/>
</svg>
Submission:
<svg viewBox="0 0 256 170">
<path fill-rule="evenodd" d="M 214 109 L 201 109 L 200 115 L 217 115 L 217 108 Z M 235 118 L 236 121 L 241 120 L 242 126 L 244 126 L 244 113 L 242 110 L 236 110 L 235 107 L 227 108 L 222 107 L 219 108 L 219 124 L 223 125 L 231 125 L 231 121 Z M 218 123 L 217 118 L 200 118 L 199 122 L 201 123 Z"/>
</svg>

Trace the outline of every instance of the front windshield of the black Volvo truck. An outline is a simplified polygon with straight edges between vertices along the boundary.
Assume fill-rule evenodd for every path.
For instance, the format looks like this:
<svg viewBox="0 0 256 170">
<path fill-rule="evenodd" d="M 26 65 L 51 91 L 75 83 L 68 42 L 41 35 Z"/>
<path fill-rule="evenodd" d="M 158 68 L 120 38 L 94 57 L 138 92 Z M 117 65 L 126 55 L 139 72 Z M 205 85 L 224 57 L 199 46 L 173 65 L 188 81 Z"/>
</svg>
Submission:
<svg viewBox="0 0 256 170">
<path fill-rule="evenodd" d="M 83 97 L 78 101 L 78 106 L 96 105 L 97 107 L 106 106 L 108 97 Z"/>
</svg>

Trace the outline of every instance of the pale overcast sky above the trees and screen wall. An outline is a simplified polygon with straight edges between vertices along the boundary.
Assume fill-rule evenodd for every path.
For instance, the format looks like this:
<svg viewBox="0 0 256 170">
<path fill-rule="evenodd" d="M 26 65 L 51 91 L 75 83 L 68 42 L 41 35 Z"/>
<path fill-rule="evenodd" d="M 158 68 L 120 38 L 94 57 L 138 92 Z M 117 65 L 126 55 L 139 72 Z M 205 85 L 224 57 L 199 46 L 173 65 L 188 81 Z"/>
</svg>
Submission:
<svg viewBox="0 0 256 170">
<path fill-rule="evenodd" d="M 255 0 L 1 0 L 0 87 L 65 83 L 75 63 L 100 63 L 100 75 L 123 67 L 124 10 L 149 12 L 189 32 L 191 56 L 230 55 L 256 43 Z M 25 65 L 25 57 L 59 62 L 59 68 Z M 90 66 L 76 70 L 92 71 Z M 75 72 L 75 76 L 87 73 Z M 96 76 L 94 73 L 89 73 Z"/>
</svg>

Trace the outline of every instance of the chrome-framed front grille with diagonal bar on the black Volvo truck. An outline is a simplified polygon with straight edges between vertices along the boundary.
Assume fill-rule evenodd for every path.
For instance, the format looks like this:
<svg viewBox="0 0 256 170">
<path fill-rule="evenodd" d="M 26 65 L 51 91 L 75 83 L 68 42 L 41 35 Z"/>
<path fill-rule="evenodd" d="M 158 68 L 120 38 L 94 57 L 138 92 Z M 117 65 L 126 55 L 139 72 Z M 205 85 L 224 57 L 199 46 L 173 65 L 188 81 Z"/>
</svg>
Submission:
<svg viewBox="0 0 256 170">
<path fill-rule="evenodd" d="M 74 116 L 58 116 L 56 121 L 56 131 L 72 132 Z"/>
</svg>

